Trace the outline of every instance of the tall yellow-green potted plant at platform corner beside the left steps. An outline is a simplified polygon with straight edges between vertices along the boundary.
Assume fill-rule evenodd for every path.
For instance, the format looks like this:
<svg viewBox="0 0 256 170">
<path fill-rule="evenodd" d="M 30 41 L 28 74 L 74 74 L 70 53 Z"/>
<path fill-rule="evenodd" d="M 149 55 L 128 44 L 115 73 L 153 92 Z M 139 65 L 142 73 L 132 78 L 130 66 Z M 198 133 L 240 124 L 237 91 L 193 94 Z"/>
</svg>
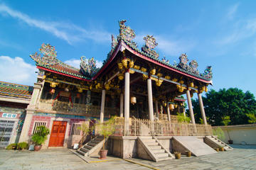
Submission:
<svg viewBox="0 0 256 170">
<path fill-rule="evenodd" d="M 99 128 L 100 135 L 103 135 L 105 142 L 103 143 L 103 147 L 100 150 L 100 159 L 106 159 L 107 158 L 107 140 L 114 133 L 114 117 L 110 118 L 109 120 L 105 121 L 105 123 L 99 123 L 97 125 L 97 128 Z"/>
</svg>

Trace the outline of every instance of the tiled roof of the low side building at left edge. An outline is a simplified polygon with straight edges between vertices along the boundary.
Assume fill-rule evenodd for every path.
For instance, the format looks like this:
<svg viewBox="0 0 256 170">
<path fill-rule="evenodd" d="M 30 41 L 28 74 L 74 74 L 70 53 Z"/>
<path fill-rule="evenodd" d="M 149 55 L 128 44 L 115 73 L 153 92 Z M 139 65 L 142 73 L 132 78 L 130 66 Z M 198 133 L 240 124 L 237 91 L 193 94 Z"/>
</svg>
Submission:
<svg viewBox="0 0 256 170">
<path fill-rule="evenodd" d="M 7 83 L 0 81 L 0 95 L 12 96 L 17 98 L 31 98 L 33 86 L 25 86 L 21 84 Z"/>
</svg>

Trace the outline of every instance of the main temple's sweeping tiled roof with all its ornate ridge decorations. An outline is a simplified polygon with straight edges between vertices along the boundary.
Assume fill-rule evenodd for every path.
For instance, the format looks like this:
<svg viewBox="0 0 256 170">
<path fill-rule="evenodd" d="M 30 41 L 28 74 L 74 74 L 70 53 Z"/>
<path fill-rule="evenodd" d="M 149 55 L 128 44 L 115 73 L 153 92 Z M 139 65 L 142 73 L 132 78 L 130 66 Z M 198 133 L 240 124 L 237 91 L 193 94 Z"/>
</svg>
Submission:
<svg viewBox="0 0 256 170">
<path fill-rule="evenodd" d="M 174 71 L 211 82 L 211 67 L 206 67 L 204 73 L 200 74 L 197 69 L 198 63 L 196 60 L 192 60 L 188 64 L 188 58 L 186 54 L 182 54 L 179 57 L 180 61 L 178 64 L 170 64 L 169 60 L 166 60 L 165 57 L 160 60 L 159 54 L 154 50 L 154 47 L 156 47 L 158 43 L 152 35 L 146 35 L 146 37 L 144 37 L 145 45 L 142 46 L 142 50 L 139 50 L 137 43 L 132 41 L 135 38 L 134 30 L 132 30 L 132 28 L 129 26 L 125 26 L 125 22 L 126 21 L 124 20 L 119 21 L 119 35 L 117 35 L 117 39 L 115 39 L 112 35 L 112 50 L 107 55 L 107 59 L 103 62 L 103 66 L 100 69 L 96 68 L 95 60 L 93 58 L 86 60 L 85 57 L 81 57 L 80 69 L 71 67 L 70 65 L 63 63 L 56 58 L 57 52 L 55 51 L 55 47 L 49 44 L 41 45 L 41 48 L 39 49 L 40 52 L 35 52 L 33 55 L 31 55 L 31 58 L 36 61 L 36 65 L 39 68 L 48 69 L 49 71 L 58 72 L 60 74 L 78 79 L 91 80 L 96 79 L 98 73 L 105 69 L 105 64 L 109 63 L 110 58 L 113 57 L 113 52 L 117 50 L 117 47 L 120 45 L 120 43 L 124 42 L 125 45 L 134 50 L 134 52 L 137 52 L 139 55 L 143 55 L 144 57 L 151 59 L 151 61 L 154 60 L 156 63 L 164 64 L 164 66 Z"/>
</svg>

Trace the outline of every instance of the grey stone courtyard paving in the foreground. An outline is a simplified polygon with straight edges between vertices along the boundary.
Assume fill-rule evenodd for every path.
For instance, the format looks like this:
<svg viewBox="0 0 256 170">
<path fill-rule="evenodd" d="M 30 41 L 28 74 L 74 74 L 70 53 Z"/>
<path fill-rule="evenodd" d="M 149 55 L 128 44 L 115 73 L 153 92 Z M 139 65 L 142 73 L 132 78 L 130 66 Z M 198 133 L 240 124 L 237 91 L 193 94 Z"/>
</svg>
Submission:
<svg viewBox="0 0 256 170">
<path fill-rule="evenodd" d="M 0 169 L 256 169 L 256 145 L 232 145 L 234 149 L 201 157 L 181 157 L 162 162 L 108 157 L 90 158 L 87 163 L 69 149 L 44 149 L 40 152 L 0 149 Z M 134 163 L 136 164 L 134 164 Z M 145 166 L 143 166 L 145 165 Z"/>
</svg>

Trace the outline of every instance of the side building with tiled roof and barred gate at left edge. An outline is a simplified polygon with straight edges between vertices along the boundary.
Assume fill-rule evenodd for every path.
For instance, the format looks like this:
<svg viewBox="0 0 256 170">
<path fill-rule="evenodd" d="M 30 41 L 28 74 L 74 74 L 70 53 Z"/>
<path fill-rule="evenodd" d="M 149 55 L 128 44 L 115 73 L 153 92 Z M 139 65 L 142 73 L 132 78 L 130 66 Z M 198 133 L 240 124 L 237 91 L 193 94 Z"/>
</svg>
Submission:
<svg viewBox="0 0 256 170">
<path fill-rule="evenodd" d="M 0 147 L 18 142 L 33 86 L 0 81 Z"/>
</svg>

